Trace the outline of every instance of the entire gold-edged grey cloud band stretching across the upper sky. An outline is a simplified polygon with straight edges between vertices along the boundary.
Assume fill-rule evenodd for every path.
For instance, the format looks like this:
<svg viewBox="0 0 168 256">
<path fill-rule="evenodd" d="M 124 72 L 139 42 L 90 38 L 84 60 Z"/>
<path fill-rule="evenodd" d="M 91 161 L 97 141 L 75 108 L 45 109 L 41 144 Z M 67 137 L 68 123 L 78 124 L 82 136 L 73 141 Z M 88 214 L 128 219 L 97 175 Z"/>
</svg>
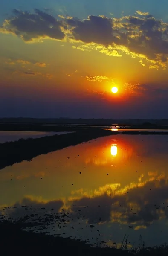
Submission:
<svg viewBox="0 0 168 256">
<path fill-rule="evenodd" d="M 151 66 L 159 65 L 166 69 L 168 23 L 148 12 L 138 10 L 136 14 L 138 16 L 121 18 L 90 15 L 84 20 L 59 15 L 60 20 L 57 20 L 39 9 L 35 9 L 35 13 L 14 10 L 14 17 L 4 21 L 0 32 L 12 33 L 25 42 L 43 41 L 45 38 L 67 40 L 75 44 L 72 46 L 74 49 L 95 49 L 116 57 L 124 53 L 148 61 Z"/>
</svg>

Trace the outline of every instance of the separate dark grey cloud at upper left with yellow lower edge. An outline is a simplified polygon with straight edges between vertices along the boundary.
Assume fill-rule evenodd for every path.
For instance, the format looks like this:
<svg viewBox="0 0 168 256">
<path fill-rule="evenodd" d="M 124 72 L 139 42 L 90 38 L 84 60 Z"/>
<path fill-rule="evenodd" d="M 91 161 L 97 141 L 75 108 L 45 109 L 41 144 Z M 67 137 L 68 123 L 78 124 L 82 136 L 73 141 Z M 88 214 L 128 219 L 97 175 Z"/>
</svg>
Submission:
<svg viewBox="0 0 168 256">
<path fill-rule="evenodd" d="M 35 9 L 34 14 L 16 9 L 13 13 L 14 17 L 4 21 L 1 32 L 12 33 L 26 42 L 42 41 L 44 38 L 64 40 L 65 34 L 61 30 L 64 25 L 52 15 L 39 9 Z"/>
</svg>

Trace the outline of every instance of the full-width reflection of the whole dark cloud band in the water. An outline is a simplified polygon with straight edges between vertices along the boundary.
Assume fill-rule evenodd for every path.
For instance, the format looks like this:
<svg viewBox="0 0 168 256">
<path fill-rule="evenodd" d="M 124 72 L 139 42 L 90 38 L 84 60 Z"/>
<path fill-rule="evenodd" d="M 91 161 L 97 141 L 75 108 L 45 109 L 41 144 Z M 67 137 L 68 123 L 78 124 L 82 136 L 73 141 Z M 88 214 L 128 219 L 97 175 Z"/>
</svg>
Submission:
<svg viewBox="0 0 168 256">
<path fill-rule="evenodd" d="M 133 184 L 127 189 L 104 187 L 94 197 L 84 196 L 68 201 L 69 208 L 63 208 L 63 201 L 53 200 L 48 202 L 37 201 L 33 198 L 23 198 L 6 209 L 8 217 L 20 218 L 32 213 L 44 215 L 58 213 L 69 216 L 69 220 L 76 222 L 79 219 L 89 224 L 103 222 L 118 222 L 133 224 L 134 227 L 149 226 L 161 218 L 168 218 L 168 184 L 166 178 L 155 177 L 153 181 Z M 25 210 L 26 208 L 26 210 Z M 44 209 L 45 208 L 45 209 Z M 67 212 L 71 212 L 70 215 Z M 59 212 L 60 214 L 60 212 Z"/>
</svg>

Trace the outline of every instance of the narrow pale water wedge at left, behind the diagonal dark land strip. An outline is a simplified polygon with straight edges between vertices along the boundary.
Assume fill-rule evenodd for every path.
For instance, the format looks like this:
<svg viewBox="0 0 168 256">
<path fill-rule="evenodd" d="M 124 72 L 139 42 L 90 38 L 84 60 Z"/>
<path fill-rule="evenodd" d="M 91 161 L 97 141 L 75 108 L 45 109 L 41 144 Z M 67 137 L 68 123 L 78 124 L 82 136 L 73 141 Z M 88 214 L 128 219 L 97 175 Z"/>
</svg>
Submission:
<svg viewBox="0 0 168 256">
<path fill-rule="evenodd" d="M 15 141 L 19 139 L 41 138 L 55 134 L 66 134 L 68 132 L 46 132 L 46 131 L 0 131 L 0 143 Z"/>
</svg>

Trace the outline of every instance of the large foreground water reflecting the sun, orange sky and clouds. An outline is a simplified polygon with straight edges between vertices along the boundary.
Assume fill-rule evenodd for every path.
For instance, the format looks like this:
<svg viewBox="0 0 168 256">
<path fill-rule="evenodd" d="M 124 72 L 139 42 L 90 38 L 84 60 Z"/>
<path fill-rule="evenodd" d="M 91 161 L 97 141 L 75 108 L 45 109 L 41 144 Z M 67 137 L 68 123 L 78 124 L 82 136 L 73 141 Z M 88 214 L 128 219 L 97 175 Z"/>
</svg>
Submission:
<svg viewBox="0 0 168 256">
<path fill-rule="evenodd" d="M 167 156 L 166 135 L 122 134 L 41 155 L 0 171 L 0 210 L 39 214 L 29 221 L 52 214 L 44 231 L 93 244 L 120 244 L 126 234 L 130 244 L 160 245 L 168 237 Z"/>
</svg>

